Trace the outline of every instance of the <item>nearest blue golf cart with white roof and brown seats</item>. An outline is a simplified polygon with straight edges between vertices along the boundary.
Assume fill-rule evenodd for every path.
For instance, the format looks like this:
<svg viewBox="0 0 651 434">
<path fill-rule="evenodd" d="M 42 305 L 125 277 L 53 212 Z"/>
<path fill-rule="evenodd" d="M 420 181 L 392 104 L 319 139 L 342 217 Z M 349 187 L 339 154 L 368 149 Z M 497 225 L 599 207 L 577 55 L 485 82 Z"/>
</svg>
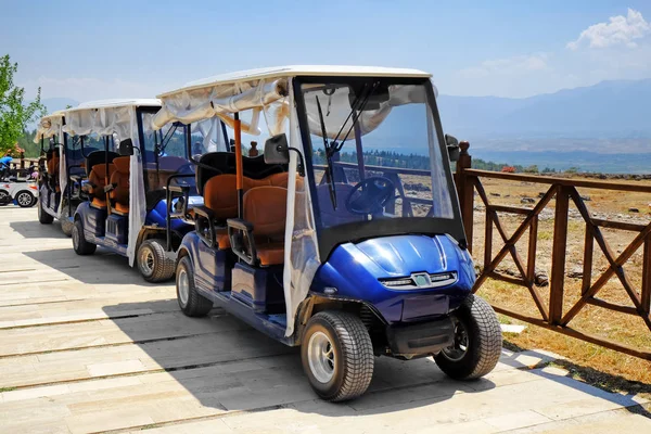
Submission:
<svg viewBox="0 0 651 434">
<path fill-rule="evenodd" d="M 493 370 L 500 327 L 471 292 L 456 139 L 443 133 L 429 74 L 289 66 L 159 98 L 153 128 L 217 117 L 234 137 L 234 152 L 204 154 L 197 167 L 204 204 L 176 265 L 186 315 L 220 306 L 299 345 L 327 400 L 362 395 L 375 356 L 432 356 L 459 380 Z M 260 124 L 264 154 L 244 156 L 242 133 Z"/>
</svg>

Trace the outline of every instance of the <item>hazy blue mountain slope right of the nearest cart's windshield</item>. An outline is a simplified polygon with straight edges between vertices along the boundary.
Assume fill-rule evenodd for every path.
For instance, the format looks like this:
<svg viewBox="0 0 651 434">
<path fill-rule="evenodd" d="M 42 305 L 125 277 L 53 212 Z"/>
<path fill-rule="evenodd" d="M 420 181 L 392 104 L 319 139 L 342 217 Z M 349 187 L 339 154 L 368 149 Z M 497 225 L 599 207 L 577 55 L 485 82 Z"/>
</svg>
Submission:
<svg viewBox="0 0 651 434">
<path fill-rule="evenodd" d="M 444 129 L 482 138 L 651 138 L 651 79 L 524 99 L 441 95 Z"/>
</svg>

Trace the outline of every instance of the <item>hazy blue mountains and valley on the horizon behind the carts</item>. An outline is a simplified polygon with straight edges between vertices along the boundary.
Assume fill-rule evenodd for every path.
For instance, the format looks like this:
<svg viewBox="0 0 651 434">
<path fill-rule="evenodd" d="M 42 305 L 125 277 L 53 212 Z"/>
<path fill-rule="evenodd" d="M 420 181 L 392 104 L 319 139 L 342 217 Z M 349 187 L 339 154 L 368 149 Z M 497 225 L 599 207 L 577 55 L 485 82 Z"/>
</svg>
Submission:
<svg viewBox="0 0 651 434">
<path fill-rule="evenodd" d="M 48 112 L 77 105 L 43 100 Z M 446 132 L 475 157 L 540 168 L 651 173 L 651 79 L 602 81 L 523 99 L 442 94 Z"/>
</svg>

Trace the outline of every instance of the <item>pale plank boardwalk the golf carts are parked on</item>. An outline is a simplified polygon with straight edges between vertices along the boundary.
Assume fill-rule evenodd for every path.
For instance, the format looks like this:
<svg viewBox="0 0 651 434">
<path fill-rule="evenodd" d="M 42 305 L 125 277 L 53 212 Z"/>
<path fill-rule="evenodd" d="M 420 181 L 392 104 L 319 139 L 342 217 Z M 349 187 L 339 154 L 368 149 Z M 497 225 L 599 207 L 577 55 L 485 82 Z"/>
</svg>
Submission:
<svg viewBox="0 0 651 434">
<path fill-rule="evenodd" d="M 641 399 L 536 369 L 541 352 L 472 383 L 381 358 L 367 395 L 323 403 L 295 349 L 218 309 L 186 318 L 174 284 L 76 256 L 35 208 L 0 208 L 0 433 L 651 432 Z"/>
</svg>

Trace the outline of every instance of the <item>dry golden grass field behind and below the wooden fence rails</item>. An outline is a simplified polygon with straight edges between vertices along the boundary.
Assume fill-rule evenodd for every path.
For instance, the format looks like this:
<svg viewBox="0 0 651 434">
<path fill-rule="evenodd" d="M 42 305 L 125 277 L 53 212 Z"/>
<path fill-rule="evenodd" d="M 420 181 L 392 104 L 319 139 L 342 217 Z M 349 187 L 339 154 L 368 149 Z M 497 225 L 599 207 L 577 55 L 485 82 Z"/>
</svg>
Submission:
<svg viewBox="0 0 651 434">
<path fill-rule="evenodd" d="M 492 204 L 528 206 L 522 205 L 522 197 L 538 197 L 548 187 L 532 184 L 528 182 L 510 182 L 503 180 L 482 180 Z M 640 181 L 650 184 L 649 181 Z M 604 214 L 608 219 L 649 222 L 651 220 L 651 195 L 644 193 L 622 193 L 616 191 L 582 190 L 580 194 L 589 196 L 586 202 L 591 213 Z M 475 199 L 475 206 L 481 204 Z M 548 207 L 553 208 L 552 201 Z M 629 213 L 629 208 L 638 208 L 640 213 Z M 599 216 L 603 218 L 602 216 Z M 500 215 L 500 221 L 510 235 L 522 221 L 522 217 Z M 567 273 L 580 272 L 583 270 L 585 222 L 580 219 L 571 219 L 569 224 L 569 239 L 565 265 L 565 297 L 564 312 L 576 303 L 580 296 L 580 276 L 569 277 Z M 613 253 L 618 255 L 637 233 L 618 230 L 604 229 L 604 238 Z M 475 210 L 473 256 L 477 264 L 484 261 L 485 239 L 485 214 Z M 551 246 L 553 241 L 553 214 L 541 219 L 538 228 L 536 269 L 545 271 L 550 276 Z M 518 243 L 518 251 L 522 260 L 526 264 L 528 231 Z M 494 230 L 493 256 L 502 247 L 503 242 Z M 627 277 L 639 293 L 642 281 L 642 252 L 641 248 L 624 266 Z M 593 283 L 599 276 L 608 269 L 608 260 L 601 250 L 595 244 L 595 256 L 592 264 Z M 510 255 L 498 267 L 498 270 L 515 271 L 516 267 Z M 519 276 L 518 276 L 519 277 Z M 539 288 L 539 292 L 546 301 L 549 299 L 549 286 Z M 513 311 L 528 316 L 539 317 L 539 312 L 533 302 L 528 290 L 488 280 L 480 290 L 490 303 L 508 308 Z M 616 277 L 609 280 L 598 296 L 611 303 L 633 306 L 633 303 Z M 502 317 L 503 319 L 503 317 Z M 523 323 L 509 319 L 511 323 Z M 614 312 L 600 307 L 586 306 L 582 312 L 572 320 L 570 326 L 583 332 L 605 337 L 636 348 L 651 350 L 651 331 L 641 318 L 625 314 Z M 639 358 L 623 355 L 617 352 L 585 343 L 583 341 L 562 335 L 535 326 L 529 326 L 519 335 L 507 335 L 508 345 L 514 348 L 545 348 L 566 357 L 566 361 L 559 362 L 569 369 L 573 375 L 602 386 L 604 388 L 626 393 L 643 393 L 651 396 L 651 362 Z"/>
</svg>

